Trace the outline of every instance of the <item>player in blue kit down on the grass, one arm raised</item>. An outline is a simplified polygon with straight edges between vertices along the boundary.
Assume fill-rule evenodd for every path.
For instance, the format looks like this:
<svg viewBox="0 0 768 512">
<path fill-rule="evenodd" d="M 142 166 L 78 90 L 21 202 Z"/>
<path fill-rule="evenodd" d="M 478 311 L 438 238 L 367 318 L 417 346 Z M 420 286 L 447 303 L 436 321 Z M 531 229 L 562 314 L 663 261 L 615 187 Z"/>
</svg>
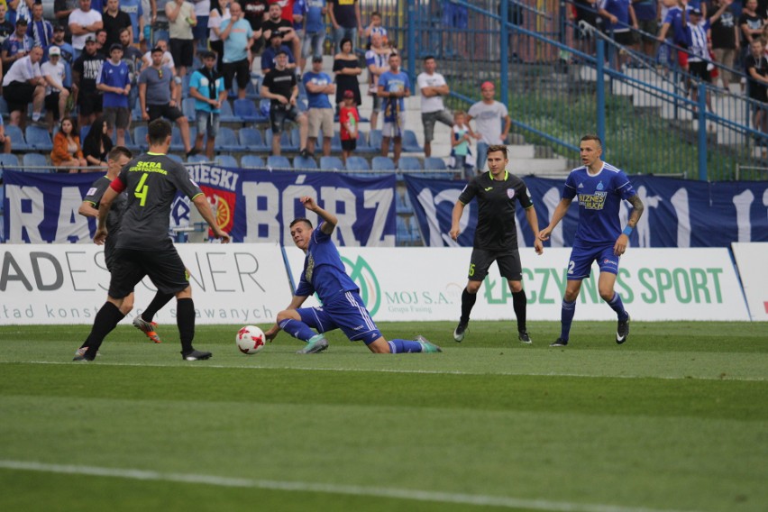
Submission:
<svg viewBox="0 0 768 512">
<path fill-rule="evenodd" d="M 306 218 L 290 223 L 293 242 L 306 252 L 304 270 L 288 308 L 278 313 L 277 322 L 265 333 L 267 339 L 271 342 L 283 330 L 306 342 L 306 347 L 297 353 L 316 353 L 328 348 L 325 333 L 341 329 L 350 341 L 361 341 L 374 353 L 443 352 L 421 335 L 416 336 L 416 340 L 388 342 L 384 339 L 360 297 L 360 288 L 347 275 L 331 240 L 338 222 L 336 215 L 317 206 L 312 197 L 301 197 L 301 202 L 307 210 L 319 215 L 321 222 L 315 229 Z M 314 293 L 323 306 L 300 307 L 306 297 Z"/>
</svg>

